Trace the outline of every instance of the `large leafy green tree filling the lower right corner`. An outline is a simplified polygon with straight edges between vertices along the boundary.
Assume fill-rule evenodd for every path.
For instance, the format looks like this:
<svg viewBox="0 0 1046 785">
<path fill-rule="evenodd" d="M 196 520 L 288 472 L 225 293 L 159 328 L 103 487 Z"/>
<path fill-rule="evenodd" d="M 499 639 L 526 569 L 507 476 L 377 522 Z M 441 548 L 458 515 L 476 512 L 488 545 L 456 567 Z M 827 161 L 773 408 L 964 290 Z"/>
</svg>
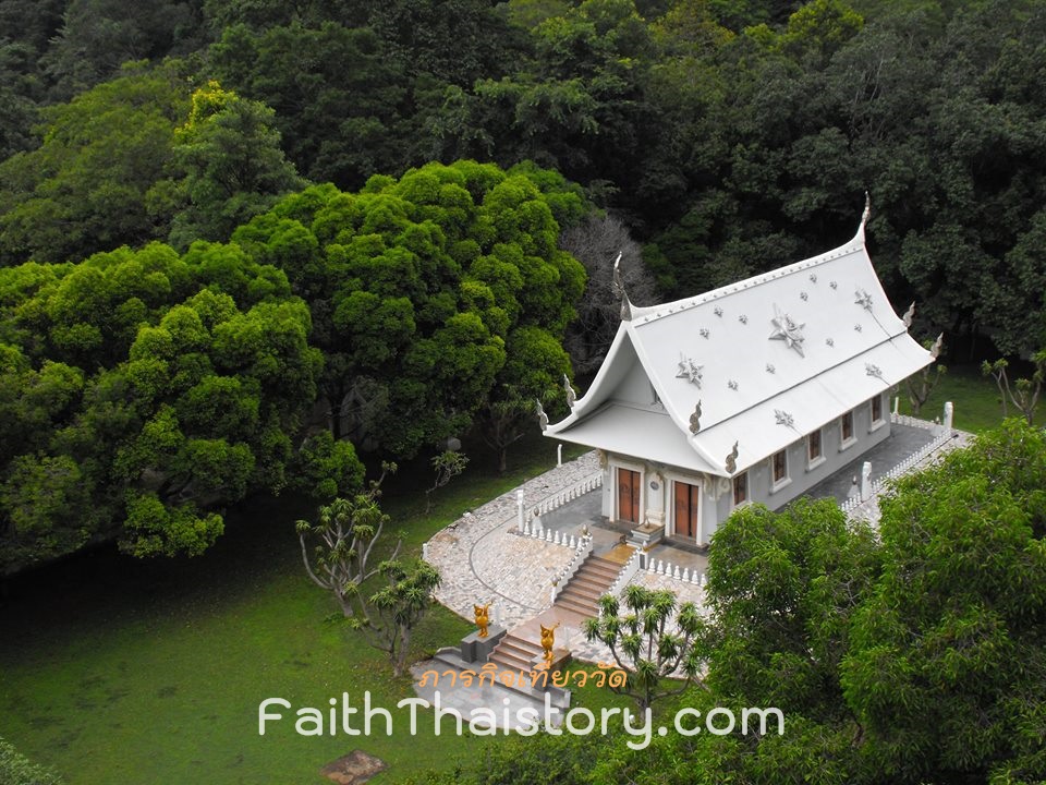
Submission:
<svg viewBox="0 0 1046 785">
<path fill-rule="evenodd" d="M 890 781 L 1046 775 L 1044 487 L 1046 436 L 1008 420 L 880 500 L 840 684 Z"/>
</svg>

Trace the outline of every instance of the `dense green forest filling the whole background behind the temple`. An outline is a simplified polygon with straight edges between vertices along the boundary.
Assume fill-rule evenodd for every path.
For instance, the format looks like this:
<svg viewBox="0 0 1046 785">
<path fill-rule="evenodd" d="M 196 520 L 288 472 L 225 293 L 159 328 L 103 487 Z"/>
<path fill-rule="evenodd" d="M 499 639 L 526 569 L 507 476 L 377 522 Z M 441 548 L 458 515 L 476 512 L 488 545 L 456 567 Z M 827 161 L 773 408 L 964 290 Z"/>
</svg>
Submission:
<svg viewBox="0 0 1046 785">
<path fill-rule="evenodd" d="M 616 249 L 633 299 L 688 295 L 849 238 L 865 192 L 919 337 L 1044 342 L 1039 0 L 2 0 L 0 31 L 0 572 L 200 553 L 362 448 L 503 461 L 598 365 Z"/>
</svg>

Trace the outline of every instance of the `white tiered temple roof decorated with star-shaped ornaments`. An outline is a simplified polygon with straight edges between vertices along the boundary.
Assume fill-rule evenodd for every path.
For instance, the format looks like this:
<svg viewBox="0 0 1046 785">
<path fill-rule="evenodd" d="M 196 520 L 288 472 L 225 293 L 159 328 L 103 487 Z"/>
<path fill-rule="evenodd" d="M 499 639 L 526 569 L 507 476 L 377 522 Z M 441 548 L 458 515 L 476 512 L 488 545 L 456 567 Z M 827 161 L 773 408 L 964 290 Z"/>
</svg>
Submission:
<svg viewBox="0 0 1046 785">
<path fill-rule="evenodd" d="M 592 387 L 549 436 L 729 476 L 735 443 L 743 471 L 933 362 L 883 291 L 864 220 L 819 256 L 629 310 Z"/>
</svg>

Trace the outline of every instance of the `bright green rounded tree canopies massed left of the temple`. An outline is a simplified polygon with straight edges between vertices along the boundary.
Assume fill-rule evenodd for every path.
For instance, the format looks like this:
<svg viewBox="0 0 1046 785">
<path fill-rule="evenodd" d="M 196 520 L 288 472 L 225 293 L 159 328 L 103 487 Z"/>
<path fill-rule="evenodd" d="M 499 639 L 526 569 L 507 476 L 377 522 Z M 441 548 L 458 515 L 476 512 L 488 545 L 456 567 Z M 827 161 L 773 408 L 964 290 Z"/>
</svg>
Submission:
<svg viewBox="0 0 1046 785">
<path fill-rule="evenodd" d="M 208 86 L 191 123 L 238 101 Z M 562 399 L 585 277 L 557 238 L 587 209 L 533 166 L 434 164 L 182 254 L 0 268 L 2 571 L 111 538 L 198 554 L 252 491 L 354 492 L 346 435 L 412 457 L 492 402 Z"/>
</svg>

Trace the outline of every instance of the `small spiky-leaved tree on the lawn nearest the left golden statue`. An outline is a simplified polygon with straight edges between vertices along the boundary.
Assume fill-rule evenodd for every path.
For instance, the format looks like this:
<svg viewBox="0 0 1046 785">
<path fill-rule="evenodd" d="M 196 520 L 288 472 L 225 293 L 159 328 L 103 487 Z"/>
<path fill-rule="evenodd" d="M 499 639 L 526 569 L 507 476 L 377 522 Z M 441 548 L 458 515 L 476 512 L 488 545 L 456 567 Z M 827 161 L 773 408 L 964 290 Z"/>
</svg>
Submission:
<svg viewBox="0 0 1046 785">
<path fill-rule="evenodd" d="M 410 566 L 394 559 L 382 561 L 378 573 L 385 585 L 365 601 L 360 597 L 361 615 L 351 624 L 386 652 L 394 676 L 402 676 L 411 645 L 411 632 L 433 606 L 433 592 L 439 587 L 439 571 L 426 561 Z M 358 584 L 353 592 L 360 594 Z"/>
</svg>

